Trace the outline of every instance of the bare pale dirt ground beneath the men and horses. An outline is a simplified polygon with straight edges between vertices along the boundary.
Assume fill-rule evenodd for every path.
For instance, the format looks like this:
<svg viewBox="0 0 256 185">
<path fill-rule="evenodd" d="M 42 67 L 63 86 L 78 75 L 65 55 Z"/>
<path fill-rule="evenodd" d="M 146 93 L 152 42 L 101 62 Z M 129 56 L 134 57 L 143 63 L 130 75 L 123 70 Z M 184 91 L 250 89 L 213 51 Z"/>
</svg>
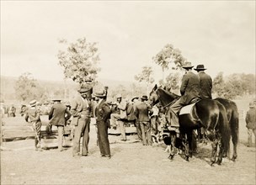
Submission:
<svg viewBox="0 0 256 185">
<path fill-rule="evenodd" d="M 240 120 L 236 162 L 227 158 L 210 166 L 211 145 L 199 145 L 198 153 L 168 160 L 165 145 L 143 146 L 136 135 L 128 141 L 109 135 L 111 159 L 100 157 L 96 132 L 90 131 L 89 154 L 72 157 L 72 143 L 56 150 L 56 139 L 45 140 L 47 150 L 35 151 L 34 140 L 3 142 L 1 184 L 255 184 L 256 150 L 248 148 L 245 122 Z M 231 147 L 232 151 L 232 147 Z"/>
</svg>

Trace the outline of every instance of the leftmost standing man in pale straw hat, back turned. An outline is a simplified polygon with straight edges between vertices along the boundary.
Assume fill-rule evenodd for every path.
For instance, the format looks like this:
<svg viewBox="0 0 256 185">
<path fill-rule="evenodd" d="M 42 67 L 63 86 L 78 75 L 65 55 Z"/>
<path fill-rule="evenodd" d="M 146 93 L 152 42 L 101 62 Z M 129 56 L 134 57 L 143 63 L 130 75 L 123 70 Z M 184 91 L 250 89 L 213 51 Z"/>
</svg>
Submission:
<svg viewBox="0 0 256 185">
<path fill-rule="evenodd" d="M 26 122 L 31 122 L 32 127 L 35 131 L 35 151 L 42 151 L 40 145 L 40 136 L 41 136 L 41 119 L 40 119 L 40 110 L 36 108 L 36 100 L 29 102 L 30 107 L 26 110 L 25 120 Z"/>
</svg>

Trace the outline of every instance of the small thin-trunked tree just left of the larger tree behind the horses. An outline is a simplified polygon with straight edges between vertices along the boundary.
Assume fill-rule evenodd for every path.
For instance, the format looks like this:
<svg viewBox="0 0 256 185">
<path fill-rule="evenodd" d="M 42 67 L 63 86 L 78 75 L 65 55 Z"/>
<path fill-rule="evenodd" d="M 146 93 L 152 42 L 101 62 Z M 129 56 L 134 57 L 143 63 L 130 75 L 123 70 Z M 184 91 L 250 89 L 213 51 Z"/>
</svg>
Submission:
<svg viewBox="0 0 256 185">
<path fill-rule="evenodd" d="M 136 81 L 146 82 L 146 84 L 147 84 L 147 95 L 148 95 L 149 84 L 154 82 L 154 79 L 152 78 L 152 74 L 153 74 L 153 71 L 152 71 L 151 66 L 143 66 L 141 73 L 135 76 Z"/>
</svg>

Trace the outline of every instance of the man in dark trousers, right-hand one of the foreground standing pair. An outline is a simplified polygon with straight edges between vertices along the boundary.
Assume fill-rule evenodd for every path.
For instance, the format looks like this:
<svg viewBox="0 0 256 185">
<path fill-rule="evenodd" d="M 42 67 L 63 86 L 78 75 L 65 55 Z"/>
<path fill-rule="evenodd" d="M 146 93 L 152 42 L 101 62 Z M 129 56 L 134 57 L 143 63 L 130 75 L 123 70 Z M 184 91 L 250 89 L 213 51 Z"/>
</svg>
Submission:
<svg viewBox="0 0 256 185">
<path fill-rule="evenodd" d="M 106 102 L 106 93 L 104 90 L 95 92 L 94 96 L 99 98 L 99 103 L 95 109 L 99 151 L 101 156 L 110 158 L 108 129 L 111 110 L 109 104 Z"/>
</svg>

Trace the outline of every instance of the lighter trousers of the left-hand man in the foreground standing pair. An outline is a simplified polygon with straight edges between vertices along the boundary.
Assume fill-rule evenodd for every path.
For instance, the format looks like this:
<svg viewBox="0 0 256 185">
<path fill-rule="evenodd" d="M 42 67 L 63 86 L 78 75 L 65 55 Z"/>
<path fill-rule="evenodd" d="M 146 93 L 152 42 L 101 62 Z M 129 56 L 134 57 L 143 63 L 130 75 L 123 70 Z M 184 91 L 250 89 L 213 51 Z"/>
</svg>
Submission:
<svg viewBox="0 0 256 185">
<path fill-rule="evenodd" d="M 88 155 L 88 143 L 89 143 L 89 131 L 90 131 L 90 120 L 89 118 L 78 119 L 77 126 L 75 128 L 75 135 L 73 140 L 73 156 L 78 156 L 80 152 L 80 140 L 83 135 L 82 144 L 82 156 Z"/>
</svg>

